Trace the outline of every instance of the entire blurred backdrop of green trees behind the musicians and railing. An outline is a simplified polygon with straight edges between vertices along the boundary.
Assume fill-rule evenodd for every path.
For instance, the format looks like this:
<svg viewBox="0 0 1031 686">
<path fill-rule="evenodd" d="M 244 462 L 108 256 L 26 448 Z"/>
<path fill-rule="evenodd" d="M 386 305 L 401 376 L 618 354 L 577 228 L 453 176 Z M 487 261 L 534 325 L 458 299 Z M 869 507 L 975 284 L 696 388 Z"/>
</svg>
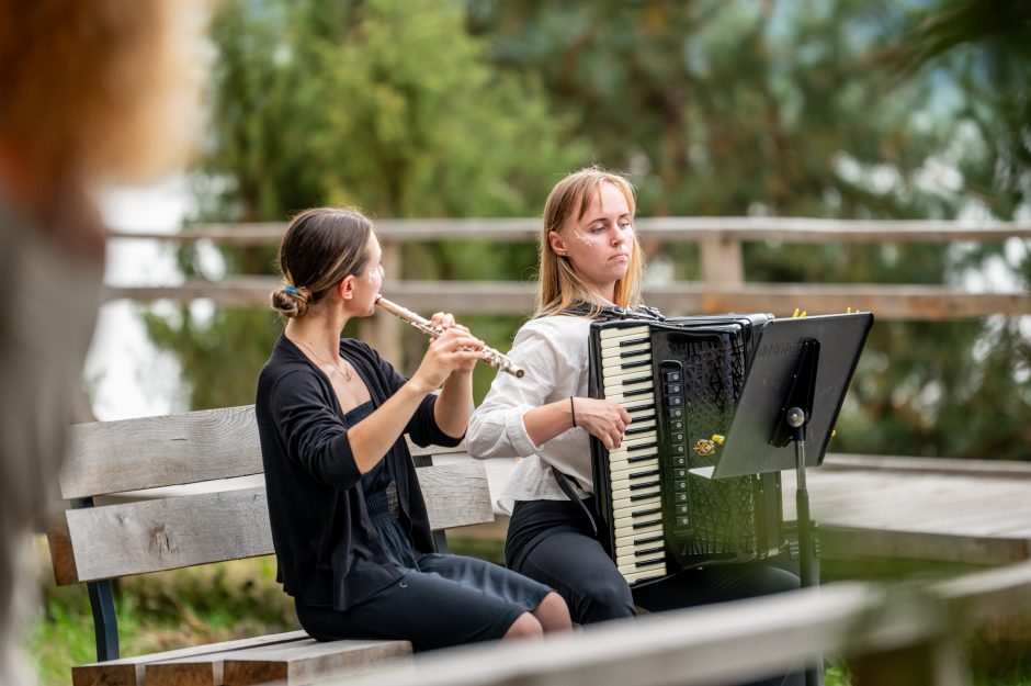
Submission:
<svg viewBox="0 0 1031 686">
<path fill-rule="evenodd" d="M 283 221 L 326 203 L 379 217 L 535 216 L 555 180 L 591 162 L 631 176 L 644 216 L 1027 217 L 1029 8 L 228 0 L 213 23 L 196 218 Z M 699 275 L 693 246 L 652 247 L 649 278 Z M 535 261 L 532 245 L 405 250 L 405 278 L 526 279 Z M 222 256 L 230 272 L 259 273 L 273 250 Z M 760 282 L 976 288 L 994 274 L 1028 288 L 1031 277 L 1020 241 L 770 241 L 745 258 Z M 195 251 L 181 262 L 203 274 Z M 518 325 L 463 318 L 501 349 Z M 197 408 L 251 402 L 279 331 L 271 315 L 224 307 L 155 311 L 148 325 Z M 1020 326 L 879 322 L 832 450 L 1031 457 Z M 478 396 L 489 375 L 478 372 Z"/>
</svg>

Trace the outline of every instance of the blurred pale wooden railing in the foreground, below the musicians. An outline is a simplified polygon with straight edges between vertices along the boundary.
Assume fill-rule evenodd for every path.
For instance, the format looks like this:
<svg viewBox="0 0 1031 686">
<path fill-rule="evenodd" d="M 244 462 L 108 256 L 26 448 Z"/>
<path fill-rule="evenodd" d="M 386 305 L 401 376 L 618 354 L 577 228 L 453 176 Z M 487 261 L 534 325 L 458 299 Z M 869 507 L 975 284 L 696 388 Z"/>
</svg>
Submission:
<svg viewBox="0 0 1031 686">
<path fill-rule="evenodd" d="M 1031 609 L 1031 563 L 933 585 L 847 583 L 417 655 L 343 686 L 702 686 L 843 655 L 857 686 L 970 686 L 971 632 Z"/>
</svg>

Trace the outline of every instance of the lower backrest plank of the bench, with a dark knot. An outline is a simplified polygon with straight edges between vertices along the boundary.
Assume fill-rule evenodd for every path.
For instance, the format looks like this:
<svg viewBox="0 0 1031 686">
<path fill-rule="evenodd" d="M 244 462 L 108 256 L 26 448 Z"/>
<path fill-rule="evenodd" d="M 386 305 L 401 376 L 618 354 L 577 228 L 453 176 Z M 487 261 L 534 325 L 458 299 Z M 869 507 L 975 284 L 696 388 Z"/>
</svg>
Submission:
<svg viewBox="0 0 1031 686">
<path fill-rule="evenodd" d="M 434 529 L 494 520 L 481 462 L 416 473 Z M 263 486 L 65 510 L 47 537 L 61 585 L 273 552 Z"/>
</svg>

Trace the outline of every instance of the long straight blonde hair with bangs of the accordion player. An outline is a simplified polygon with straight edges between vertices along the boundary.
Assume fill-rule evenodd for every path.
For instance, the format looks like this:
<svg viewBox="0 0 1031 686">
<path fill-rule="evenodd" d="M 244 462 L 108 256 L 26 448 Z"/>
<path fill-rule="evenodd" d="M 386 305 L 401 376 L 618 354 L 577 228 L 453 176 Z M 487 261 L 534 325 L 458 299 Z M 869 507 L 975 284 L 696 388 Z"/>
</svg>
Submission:
<svg viewBox="0 0 1031 686">
<path fill-rule="evenodd" d="M 535 316 L 562 314 L 573 305 L 586 304 L 590 314 L 598 314 L 604 302 L 577 275 L 573 265 L 559 257 L 548 240 L 551 232 L 562 233 L 570 216 L 582 218 L 591 200 L 601 192 L 604 183 L 616 187 L 626 199 L 631 217 L 636 214 L 637 203 L 634 187 L 623 176 L 601 167 L 586 167 L 574 171 L 555 184 L 544 202 L 544 226 L 537 246 L 539 284 Z M 641 274 L 644 269 L 641 243 L 634 234 L 634 254 L 626 274 L 615 282 L 614 304 L 620 307 L 636 307 L 641 304 Z"/>
</svg>

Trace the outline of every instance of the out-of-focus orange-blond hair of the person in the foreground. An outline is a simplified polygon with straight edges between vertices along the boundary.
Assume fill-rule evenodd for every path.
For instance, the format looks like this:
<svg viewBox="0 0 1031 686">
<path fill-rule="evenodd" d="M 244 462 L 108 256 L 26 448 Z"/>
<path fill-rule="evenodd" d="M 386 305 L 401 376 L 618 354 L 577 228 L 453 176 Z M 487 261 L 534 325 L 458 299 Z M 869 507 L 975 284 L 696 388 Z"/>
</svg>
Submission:
<svg viewBox="0 0 1031 686">
<path fill-rule="evenodd" d="M 205 4 L 0 0 L 0 137 L 48 177 L 144 181 L 183 164 Z"/>
</svg>

